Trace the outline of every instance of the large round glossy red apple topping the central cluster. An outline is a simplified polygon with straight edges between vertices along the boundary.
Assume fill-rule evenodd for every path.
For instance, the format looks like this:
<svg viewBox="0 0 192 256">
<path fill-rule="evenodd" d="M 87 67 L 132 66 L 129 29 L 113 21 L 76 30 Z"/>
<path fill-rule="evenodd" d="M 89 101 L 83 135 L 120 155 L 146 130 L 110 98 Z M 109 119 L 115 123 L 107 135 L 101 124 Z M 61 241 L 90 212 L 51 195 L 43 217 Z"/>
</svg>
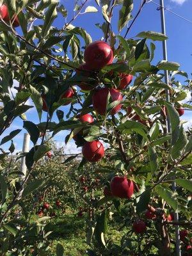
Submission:
<svg viewBox="0 0 192 256">
<path fill-rule="evenodd" d="M 113 50 L 106 42 L 95 41 L 86 47 L 84 61 L 91 70 L 100 70 L 113 62 Z"/>
</svg>

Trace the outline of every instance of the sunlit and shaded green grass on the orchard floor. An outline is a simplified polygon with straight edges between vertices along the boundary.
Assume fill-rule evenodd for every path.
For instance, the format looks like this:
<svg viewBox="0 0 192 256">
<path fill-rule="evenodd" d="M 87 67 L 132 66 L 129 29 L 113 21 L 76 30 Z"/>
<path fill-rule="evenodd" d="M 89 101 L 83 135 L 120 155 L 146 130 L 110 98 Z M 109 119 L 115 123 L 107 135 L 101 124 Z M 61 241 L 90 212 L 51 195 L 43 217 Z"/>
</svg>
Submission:
<svg viewBox="0 0 192 256">
<path fill-rule="evenodd" d="M 83 217 L 77 217 L 77 214 L 68 212 L 67 214 L 59 214 L 51 219 L 50 223 L 46 225 L 45 231 L 53 231 L 49 235 L 52 241 L 50 250 L 51 255 L 56 255 L 56 246 L 60 243 L 64 248 L 65 256 L 87 256 L 86 250 L 89 248 L 86 244 L 86 214 Z M 120 245 L 120 239 L 126 233 L 117 231 L 118 226 L 114 221 L 110 221 L 108 234 L 106 238 Z"/>
</svg>

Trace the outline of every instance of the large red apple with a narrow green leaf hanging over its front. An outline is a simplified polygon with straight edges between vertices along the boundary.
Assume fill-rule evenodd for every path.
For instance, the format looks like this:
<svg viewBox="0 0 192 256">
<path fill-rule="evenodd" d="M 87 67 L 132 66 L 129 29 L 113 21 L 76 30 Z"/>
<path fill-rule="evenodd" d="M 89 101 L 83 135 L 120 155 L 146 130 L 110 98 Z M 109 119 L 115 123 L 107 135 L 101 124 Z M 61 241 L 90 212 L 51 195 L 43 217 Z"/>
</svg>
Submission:
<svg viewBox="0 0 192 256">
<path fill-rule="evenodd" d="M 108 94 L 111 95 L 111 99 L 113 101 L 123 99 L 122 93 L 120 93 L 118 90 L 114 88 L 111 88 L 111 89 L 102 88 L 102 89 L 96 90 L 95 93 L 93 93 L 92 102 L 93 102 L 93 108 L 100 115 L 106 114 Z M 115 106 L 115 108 L 111 110 L 111 114 L 115 115 L 120 110 L 121 107 L 122 107 L 122 104 L 118 104 L 117 106 Z"/>
</svg>

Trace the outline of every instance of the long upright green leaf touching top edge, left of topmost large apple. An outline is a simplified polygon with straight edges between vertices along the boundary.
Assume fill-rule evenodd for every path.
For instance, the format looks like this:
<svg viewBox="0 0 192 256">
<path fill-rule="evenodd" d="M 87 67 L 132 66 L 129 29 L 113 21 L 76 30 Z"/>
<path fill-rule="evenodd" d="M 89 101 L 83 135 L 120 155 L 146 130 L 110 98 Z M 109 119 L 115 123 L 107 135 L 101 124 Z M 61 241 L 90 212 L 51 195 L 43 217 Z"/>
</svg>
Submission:
<svg viewBox="0 0 192 256">
<path fill-rule="evenodd" d="M 52 1 L 52 4 L 49 5 L 49 9 L 45 13 L 45 21 L 42 27 L 42 37 L 44 38 L 49 33 L 49 29 L 51 28 L 51 24 L 56 19 L 57 11 L 56 6 L 58 5 L 58 1 Z"/>
</svg>

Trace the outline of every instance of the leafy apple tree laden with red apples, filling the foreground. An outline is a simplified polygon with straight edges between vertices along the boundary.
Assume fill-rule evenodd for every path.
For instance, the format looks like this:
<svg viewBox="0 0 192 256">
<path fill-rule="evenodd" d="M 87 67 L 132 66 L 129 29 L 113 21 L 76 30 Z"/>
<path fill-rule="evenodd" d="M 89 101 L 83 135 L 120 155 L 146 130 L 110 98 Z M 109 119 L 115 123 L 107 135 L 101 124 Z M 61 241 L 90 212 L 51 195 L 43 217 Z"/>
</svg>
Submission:
<svg viewBox="0 0 192 256">
<path fill-rule="evenodd" d="M 45 133 L 53 138 L 68 131 L 63 141 L 75 140 L 82 147 L 81 163 L 74 172 L 85 179 L 99 173 L 102 180 L 100 193 L 95 188 L 87 193 L 92 204 L 89 255 L 175 255 L 175 227 L 182 229 L 183 255 L 191 255 L 192 137 L 180 120 L 184 108 L 191 109 L 181 103 L 191 90 L 191 80 L 178 63 L 154 61 L 154 41 L 166 40 L 166 35 L 142 31 L 129 38 L 137 17 L 126 28 L 132 19 L 132 0 L 96 0 L 94 6 L 86 2 L 77 1 L 76 14 L 68 22 L 67 10 L 55 0 L 5 0 L 1 5 L 2 166 L 22 129 L 33 142 L 27 154 L 20 154 L 26 157 L 25 177 L 13 179 L 12 170 L 1 170 L 1 253 L 49 255 L 46 218 L 31 225 L 28 214 L 15 218 L 13 213 L 24 209 L 26 196 L 44 186 L 44 179 L 36 179 L 33 173 L 51 150 Z M 103 16 L 102 24 L 97 24 L 101 39 L 92 42 L 92 35 L 73 22 L 79 15 L 97 11 Z M 118 24 L 113 28 L 115 15 Z M 61 28 L 56 26 L 58 19 L 63 20 Z M 169 73 L 168 84 L 164 70 Z M 180 77 L 185 83 L 177 80 Z M 165 97 L 168 92 L 170 101 Z M 26 104 L 28 99 L 34 106 Z M 36 108 L 38 124 L 26 119 L 30 108 Z M 23 127 L 4 136 L 18 118 Z M 11 147 L 4 152 L 8 141 Z M 178 212 L 180 220 L 175 221 Z M 121 246 L 106 239 L 113 214 L 128 228 Z M 58 245 L 58 255 L 62 251 Z"/>
</svg>

